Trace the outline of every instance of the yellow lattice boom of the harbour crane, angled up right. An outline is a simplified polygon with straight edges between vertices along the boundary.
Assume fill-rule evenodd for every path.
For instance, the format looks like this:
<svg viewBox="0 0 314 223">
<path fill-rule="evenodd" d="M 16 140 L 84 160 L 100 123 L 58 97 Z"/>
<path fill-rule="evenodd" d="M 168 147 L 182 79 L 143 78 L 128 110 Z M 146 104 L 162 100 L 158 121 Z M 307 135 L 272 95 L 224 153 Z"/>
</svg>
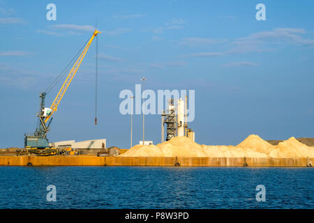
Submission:
<svg viewBox="0 0 314 223">
<path fill-rule="evenodd" d="M 89 39 L 89 42 L 87 43 L 87 45 L 83 49 L 83 51 L 80 54 L 80 56 L 78 57 L 77 61 L 75 61 L 75 64 L 74 64 L 73 68 L 70 70 L 70 72 L 68 74 L 68 77 L 66 77 L 66 80 L 63 82 L 63 85 L 61 86 L 61 89 L 60 89 L 59 93 L 57 94 L 57 97 L 54 98 L 54 102 L 52 102 L 52 105 L 50 107 L 51 113 L 50 113 L 49 116 L 47 116 L 45 118 L 45 123 L 47 123 L 47 121 L 50 119 L 52 114 L 54 114 L 54 112 L 57 112 L 57 107 L 59 105 L 59 102 L 63 98 L 64 93 L 66 93 L 66 90 L 68 89 L 68 86 L 72 82 L 72 79 L 73 79 L 73 77 L 75 76 L 75 74 L 77 72 L 77 69 L 80 68 L 82 60 L 84 59 L 84 56 L 87 53 L 87 50 L 89 49 L 89 46 L 91 45 L 91 42 L 94 40 L 95 36 L 97 36 L 98 33 L 100 33 L 100 31 L 98 31 L 98 30 L 94 31 L 93 35 Z"/>
</svg>

